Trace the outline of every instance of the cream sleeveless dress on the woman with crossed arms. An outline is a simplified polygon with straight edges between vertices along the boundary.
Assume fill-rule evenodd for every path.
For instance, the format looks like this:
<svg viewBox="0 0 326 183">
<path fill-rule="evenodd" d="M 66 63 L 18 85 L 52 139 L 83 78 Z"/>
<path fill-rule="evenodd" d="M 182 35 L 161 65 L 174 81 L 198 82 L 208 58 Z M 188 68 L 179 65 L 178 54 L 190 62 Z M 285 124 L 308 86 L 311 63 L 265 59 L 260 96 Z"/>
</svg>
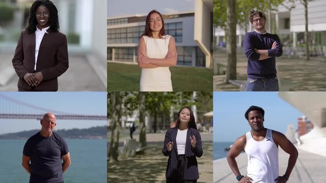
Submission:
<svg viewBox="0 0 326 183">
<path fill-rule="evenodd" d="M 149 58 L 165 58 L 169 50 L 171 36 L 154 39 L 143 36 L 146 55 Z M 172 92 L 171 72 L 169 67 L 142 68 L 140 92 Z"/>
</svg>

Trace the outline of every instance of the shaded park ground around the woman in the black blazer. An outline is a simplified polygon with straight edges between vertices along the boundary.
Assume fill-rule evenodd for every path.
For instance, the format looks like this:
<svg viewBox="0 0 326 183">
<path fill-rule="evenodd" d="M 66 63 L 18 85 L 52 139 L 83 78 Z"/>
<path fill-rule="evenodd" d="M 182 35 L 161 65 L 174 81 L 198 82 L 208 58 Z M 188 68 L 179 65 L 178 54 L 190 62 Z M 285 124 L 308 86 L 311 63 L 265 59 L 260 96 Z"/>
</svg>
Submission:
<svg viewBox="0 0 326 183">
<path fill-rule="evenodd" d="M 119 141 L 130 139 L 127 134 Z M 162 155 L 165 133 L 146 134 L 147 148 L 142 155 L 119 157 L 118 162 L 107 164 L 107 182 L 166 182 L 168 157 Z M 110 137 L 110 136 L 109 136 Z M 197 158 L 198 183 L 213 181 L 213 134 L 201 134 L 204 154 Z M 139 139 L 138 134 L 133 135 Z"/>
</svg>

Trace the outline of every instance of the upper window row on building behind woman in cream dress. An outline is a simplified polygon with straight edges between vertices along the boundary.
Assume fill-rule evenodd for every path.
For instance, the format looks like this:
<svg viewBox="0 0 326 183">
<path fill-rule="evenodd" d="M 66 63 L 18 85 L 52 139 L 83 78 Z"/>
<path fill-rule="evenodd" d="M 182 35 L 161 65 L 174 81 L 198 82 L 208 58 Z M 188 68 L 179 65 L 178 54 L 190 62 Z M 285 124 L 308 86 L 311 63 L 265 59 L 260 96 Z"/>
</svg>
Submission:
<svg viewBox="0 0 326 183">
<path fill-rule="evenodd" d="M 107 43 L 138 43 L 145 31 L 145 26 L 112 28 L 107 30 Z M 166 23 L 165 32 L 182 42 L 182 22 Z"/>
</svg>

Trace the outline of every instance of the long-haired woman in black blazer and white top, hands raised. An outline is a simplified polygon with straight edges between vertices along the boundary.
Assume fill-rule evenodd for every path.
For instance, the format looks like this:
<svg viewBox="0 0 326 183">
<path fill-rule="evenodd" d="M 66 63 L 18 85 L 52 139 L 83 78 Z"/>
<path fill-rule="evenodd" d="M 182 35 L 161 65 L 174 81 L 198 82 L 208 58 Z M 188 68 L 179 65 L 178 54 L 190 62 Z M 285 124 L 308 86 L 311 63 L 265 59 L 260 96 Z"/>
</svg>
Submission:
<svg viewBox="0 0 326 183">
<path fill-rule="evenodd" d="M 203 155 L 203 149 L 194 113 L 189 107 L 181 108 L 176 127 L 168 129 L 162 153 L 169 156 L 167 182 L 197 182 L 199 173 L 196 157 Z"/>
</svg>

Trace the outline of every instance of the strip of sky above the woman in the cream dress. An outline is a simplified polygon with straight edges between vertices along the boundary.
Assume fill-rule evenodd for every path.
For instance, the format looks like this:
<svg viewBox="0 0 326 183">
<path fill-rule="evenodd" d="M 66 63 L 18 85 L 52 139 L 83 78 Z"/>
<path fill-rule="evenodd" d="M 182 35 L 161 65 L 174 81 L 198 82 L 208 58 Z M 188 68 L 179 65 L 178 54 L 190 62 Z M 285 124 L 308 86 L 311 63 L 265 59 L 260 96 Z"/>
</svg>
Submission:
<svg viewBox="0 0 326 183">
<path fill-rule="evenodd" d="M 107 0 L 107 17 L 147 15 L 153 9 L 162 14 L 194 11 L 195 0 Z"/>
</svg>

